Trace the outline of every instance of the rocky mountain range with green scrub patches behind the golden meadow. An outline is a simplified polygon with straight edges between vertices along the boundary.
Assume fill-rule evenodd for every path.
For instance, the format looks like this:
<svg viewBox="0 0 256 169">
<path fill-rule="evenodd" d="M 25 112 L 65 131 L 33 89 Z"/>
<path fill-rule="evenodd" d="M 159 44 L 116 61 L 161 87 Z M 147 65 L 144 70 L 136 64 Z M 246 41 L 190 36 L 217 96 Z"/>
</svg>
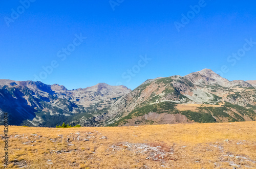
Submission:
<svg viewBox="0 0 256 169">
<path fill-rule="evenodd" d="M 229 81 L 210 69 L 148 79 L 134 90 L 0 79 L 2 120 L 5 112 L 9 125 L 45 127 L 255 121 L 256 80 Z"/>
</svg>

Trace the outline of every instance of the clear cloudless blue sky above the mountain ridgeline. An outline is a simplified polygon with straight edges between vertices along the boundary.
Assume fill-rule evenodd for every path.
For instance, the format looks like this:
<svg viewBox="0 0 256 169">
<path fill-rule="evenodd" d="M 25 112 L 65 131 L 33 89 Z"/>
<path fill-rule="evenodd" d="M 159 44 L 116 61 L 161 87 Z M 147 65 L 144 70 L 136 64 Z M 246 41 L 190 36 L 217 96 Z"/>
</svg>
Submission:
<svg viewBox="0 0 256 169">
<path fill-rule="evenodd" d="M 34 80 L 44 72 L 42 66 L 53 62 L 55 68 L 41 73 L 41 81 L 68 89 L 98 82 L 121 82 L 134 89 L 149 78 L 183 76 L 204 68 L 221 71 L 229 80 L 256 80 L 256 44 L 243 49 L 245 39 L 256 42 L 255 1 L 23 4 L 26 8 L 19 1 L 0 2 L 1 79 Z M 197 13 L 191 12 L 195 5 L 201 6 Z M 175 25 L 182 24 L 182 14 L 190 19 L 183 20 L 178 32 Z M 81 44 L 75 39 L 80 35 L 87 37 Z M 74 51 L 65 54 L 62 48 L 67 47 Z M 243 57 L 229 57 L 238 51 Z M 140 61 L 145 55 L 151 59 L 147 64 Z M 229 71 L 223 73 L 223 65 Z"/>
</svg>

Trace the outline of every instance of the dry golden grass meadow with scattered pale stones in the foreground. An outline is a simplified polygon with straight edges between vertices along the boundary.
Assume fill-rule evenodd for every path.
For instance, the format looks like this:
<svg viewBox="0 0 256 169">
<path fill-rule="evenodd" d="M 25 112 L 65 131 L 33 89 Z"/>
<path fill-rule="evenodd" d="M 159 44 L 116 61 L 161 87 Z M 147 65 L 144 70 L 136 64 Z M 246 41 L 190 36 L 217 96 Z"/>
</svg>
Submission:
<svg viewBox="0 0 256 169">
<path fill-rule="evenodd" d="M 9 126 L 9 135 L 8 168 L 256 168 L 256 122 Z M 3 148 L 0 153 L 4 154 Z"/>
</svg>

